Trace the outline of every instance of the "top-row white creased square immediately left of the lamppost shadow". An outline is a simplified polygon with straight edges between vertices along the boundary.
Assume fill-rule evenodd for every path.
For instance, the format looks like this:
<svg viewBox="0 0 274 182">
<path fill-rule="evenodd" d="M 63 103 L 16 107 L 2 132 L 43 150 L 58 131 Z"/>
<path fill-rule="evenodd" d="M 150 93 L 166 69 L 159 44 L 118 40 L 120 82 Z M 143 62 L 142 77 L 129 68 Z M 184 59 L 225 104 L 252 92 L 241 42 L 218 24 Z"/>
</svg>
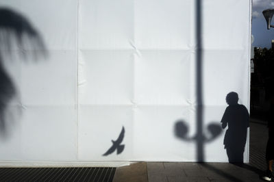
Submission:
<svg viewBox="0 0 274 182">
<path fill-rule="evenodd" d="M 134 1 L 137 49 L 184 49 L 193 45 L 194 1 Z"/>
</svg>

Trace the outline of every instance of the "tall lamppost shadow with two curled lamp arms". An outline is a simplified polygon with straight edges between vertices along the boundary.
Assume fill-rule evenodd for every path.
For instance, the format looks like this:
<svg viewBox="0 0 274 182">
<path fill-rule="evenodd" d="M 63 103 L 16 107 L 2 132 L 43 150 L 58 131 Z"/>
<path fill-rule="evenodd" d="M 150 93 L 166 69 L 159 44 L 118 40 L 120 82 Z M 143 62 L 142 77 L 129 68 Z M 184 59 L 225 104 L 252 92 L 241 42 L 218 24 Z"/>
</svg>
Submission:
<svg viewBox="0 0 274 182">
<path fill-rule="evenodd" d="M 214 140 L 221 133 L 221 126 L 212 123 L 208 125 L 208 131 L 212 134 L 211 138 L 206 138 L 203 133 L 203 40 L 202 40 L 202 1 L 195 1 L 195 42 L 196 42 L 196 98 L 197 98 L 197 112 L 196 112 L 196 134 L 193 137 L 187 136 L 188 126 L 184 120 L 177 120 L 175 123 L 175 135 L 185 141 L 196 142 L 196 159 L 199 162 L 204 159 L 204 142 Z"/>
</svg>

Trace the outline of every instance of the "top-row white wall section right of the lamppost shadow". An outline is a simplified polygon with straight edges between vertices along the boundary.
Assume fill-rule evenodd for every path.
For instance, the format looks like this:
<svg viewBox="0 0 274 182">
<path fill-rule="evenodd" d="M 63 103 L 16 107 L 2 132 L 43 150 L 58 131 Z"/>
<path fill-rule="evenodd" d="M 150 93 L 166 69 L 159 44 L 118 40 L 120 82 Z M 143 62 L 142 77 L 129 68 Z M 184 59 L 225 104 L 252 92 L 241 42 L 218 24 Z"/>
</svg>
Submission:
<svg viewBox="0 0 274 182">
<path fill-rule="evenodd" d="M 203 48 L 216 51 L 247 49 L 250 38 L 250 1 L 202 2 Z"/>
</svg>

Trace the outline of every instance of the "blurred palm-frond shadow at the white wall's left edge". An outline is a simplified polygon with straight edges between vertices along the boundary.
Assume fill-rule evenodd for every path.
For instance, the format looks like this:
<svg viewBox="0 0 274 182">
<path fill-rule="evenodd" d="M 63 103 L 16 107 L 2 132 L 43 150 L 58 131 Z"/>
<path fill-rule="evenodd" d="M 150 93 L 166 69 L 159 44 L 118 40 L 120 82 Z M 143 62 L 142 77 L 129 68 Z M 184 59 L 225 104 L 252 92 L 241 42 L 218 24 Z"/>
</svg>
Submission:
<svg viewBox="0 0 274 182">
<path fill-rule="evenodd" d="M 15 52 L 12 49 L 18 49 Z M 26 49 L 31 50 L 26 50 Z M 0 8 L 0 135 L 8 134 L 8 122 L 6 110 L 10 101 L 16 96 L 16 88 L 12 78 L 5 70 L 3 59 L 5 56 L 16 55 L 27 60 L 37 60 L 38 56 L 47 55 L 45 45 L 38 31 L 33 25 L 18 12 L 8 8 Z"/>
</svg>

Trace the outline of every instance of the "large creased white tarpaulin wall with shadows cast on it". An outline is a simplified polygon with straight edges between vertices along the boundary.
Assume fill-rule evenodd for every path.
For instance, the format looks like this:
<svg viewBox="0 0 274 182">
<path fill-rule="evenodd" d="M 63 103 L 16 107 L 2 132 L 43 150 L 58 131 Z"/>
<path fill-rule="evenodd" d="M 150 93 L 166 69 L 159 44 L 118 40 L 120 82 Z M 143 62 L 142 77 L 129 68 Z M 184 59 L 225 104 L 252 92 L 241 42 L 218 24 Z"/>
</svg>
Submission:
<svg viewBox="0 0 274 182">
<path fill-rule="evenodd" d="M 195 1 L 0 2 L 32 23 L 48 54 L 25 61 L 18 49 L 12 56 L 1 49 L 17 92 L 5 111 L 12 122 L 1 161 L 197 161 Z M 208 138 L 210 123 L 221 126 L 229 92 L 249 108 L 250 3 L 202 1 Z M 175 135 L 178 121 L 185 140 Z M 103 156 L 122 127 L 124 150 Z M 225 130 L 203 142 L 204 161 L 228 161 Z M 248 145 L 249 138 L 245 161 Z"/>
</svg>

